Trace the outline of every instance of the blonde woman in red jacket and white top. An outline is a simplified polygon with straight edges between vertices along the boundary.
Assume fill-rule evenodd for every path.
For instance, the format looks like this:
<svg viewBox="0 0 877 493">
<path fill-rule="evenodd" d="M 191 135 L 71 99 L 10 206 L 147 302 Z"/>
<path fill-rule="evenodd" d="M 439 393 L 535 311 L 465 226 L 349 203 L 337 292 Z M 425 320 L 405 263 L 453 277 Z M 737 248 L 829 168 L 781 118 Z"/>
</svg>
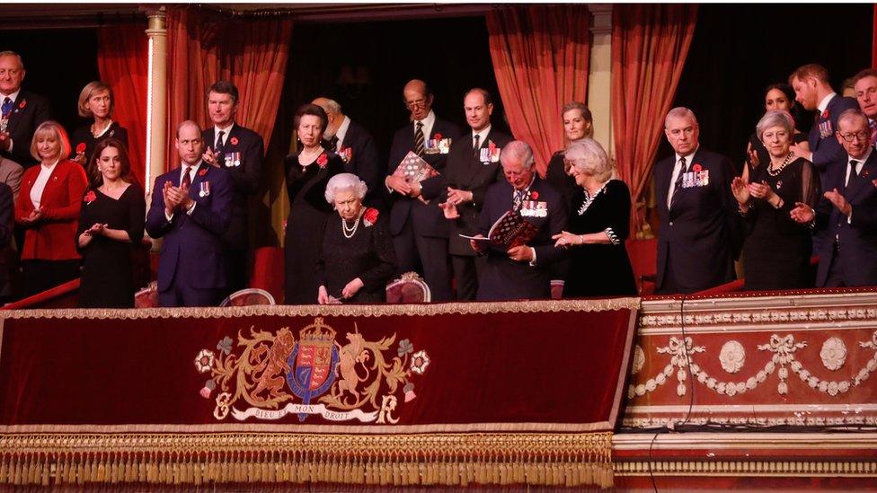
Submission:
<svg viewBox="0 0 877 493">
<path fill-rule="evenodd" d="M 70 141 L 57 121 L 37 127 L 31 155 L 40 161 L 22 176 L 15 223 L 24 228 L 22 295 L 36 295 L 79 277 L 76 219 L 85 191 L 82 166 L 67 160 Z"/>
</svg>

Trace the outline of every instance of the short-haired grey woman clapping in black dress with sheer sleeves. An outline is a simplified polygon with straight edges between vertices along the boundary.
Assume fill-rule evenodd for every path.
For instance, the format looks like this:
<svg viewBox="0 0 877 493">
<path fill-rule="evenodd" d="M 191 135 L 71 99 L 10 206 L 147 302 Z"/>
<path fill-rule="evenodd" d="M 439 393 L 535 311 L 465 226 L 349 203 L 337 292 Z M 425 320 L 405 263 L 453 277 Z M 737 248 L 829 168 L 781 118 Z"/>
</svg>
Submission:
<svg viewBox="0 0 877 493">
<path fill-rule="evenodd" d="M 790 216 L 796 202 L 812 207 L 816 198 L 813 164 L 790 150 L 794 120 L 786 111 L 767 111 L 756 127 L 770 160 L 731 182 L 744 217 L 745 289 L 793 289 L 811 286 L 811 231 Z"/>
</svg>

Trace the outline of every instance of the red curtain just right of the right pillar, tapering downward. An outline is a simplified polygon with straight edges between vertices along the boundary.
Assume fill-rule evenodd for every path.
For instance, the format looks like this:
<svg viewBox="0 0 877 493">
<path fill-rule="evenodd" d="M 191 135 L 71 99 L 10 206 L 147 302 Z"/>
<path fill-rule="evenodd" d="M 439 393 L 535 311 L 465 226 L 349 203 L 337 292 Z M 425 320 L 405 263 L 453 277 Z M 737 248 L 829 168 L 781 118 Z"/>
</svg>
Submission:
<svg viewBox="0 0 877 493">
<path fill-rule="evenodd" d="M 618 176 L 631 189 L 632 224 L 645 221 L 643 196 L 688 48 L 697 5 L 616 4 L 612 19 L 612 128 Z"/>
</svg>

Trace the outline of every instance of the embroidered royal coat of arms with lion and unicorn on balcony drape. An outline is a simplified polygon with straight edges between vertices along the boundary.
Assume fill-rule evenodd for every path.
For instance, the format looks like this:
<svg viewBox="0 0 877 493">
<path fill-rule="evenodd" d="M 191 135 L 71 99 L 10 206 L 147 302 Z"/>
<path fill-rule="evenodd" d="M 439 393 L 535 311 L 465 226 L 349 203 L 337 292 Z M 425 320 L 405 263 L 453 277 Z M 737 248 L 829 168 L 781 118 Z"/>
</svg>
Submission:
<svg viewBox="0 0 877 493">
<path fill-rule="evenodd" d="M 395 424 L 399 398 L 416 397 L 412 377 L 430 365 L 426 351 L 414 352 L 410 340 L 399 341 L 394 355 L 395 334 L 368 341 L 355 322 L 343 344 L 321 317 L 298 330 L 298 339 L 288 327 L 249 332 L 238 332 L 236 347 L 226 337 L 216 351 L 201 349 L 195 357 L 199 373 L 210 376 L 200 394 L 216 401 L 217 419 L 230 414 L 241 421 L 277 420 L 295 414 L 299 421 L 320 415 Z"/>
</svg>

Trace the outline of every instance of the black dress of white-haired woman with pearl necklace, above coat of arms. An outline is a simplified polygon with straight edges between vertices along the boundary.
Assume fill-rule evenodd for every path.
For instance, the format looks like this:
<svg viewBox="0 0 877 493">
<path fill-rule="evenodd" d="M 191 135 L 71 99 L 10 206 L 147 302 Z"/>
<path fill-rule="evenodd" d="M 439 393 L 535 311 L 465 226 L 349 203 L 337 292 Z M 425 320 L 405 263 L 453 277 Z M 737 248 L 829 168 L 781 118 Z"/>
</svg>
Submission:
<svg viewBox="0 0 877 493">
<path fill-rule="evenodd" d="M 375 209 L 376 210 L 376 209 Z M 360 216 L 356 231 L 348 238 L 342 228 L 341 216 L 335 214 L 326 223 L 323 235 L 319 272 L 329 295 L 341 298 L 347 283 L 359 277 L 362 287 L 343 303 L 384 303 L 386 282 L 393 277 L 396 256 L 386 217 L 377 216 L 375 224 L 367 226 Z M 347 224 L 348 232 L 354 225 Z"/>
</svg>

